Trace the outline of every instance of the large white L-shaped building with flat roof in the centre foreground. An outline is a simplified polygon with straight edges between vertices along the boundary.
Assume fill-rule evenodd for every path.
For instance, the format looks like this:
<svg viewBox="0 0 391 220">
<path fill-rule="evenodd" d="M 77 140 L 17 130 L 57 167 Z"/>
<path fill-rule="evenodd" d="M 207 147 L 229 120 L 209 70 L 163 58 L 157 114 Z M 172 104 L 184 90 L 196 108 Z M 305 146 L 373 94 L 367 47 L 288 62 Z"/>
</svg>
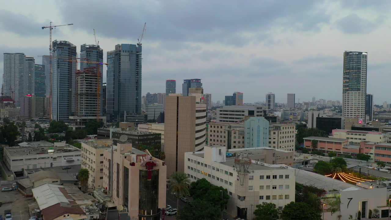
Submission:
<svg viewBox="0 0 391 220">
<path fill-rule="evenodd" d="M 253 219 L 255 206 L 262 202 L 272 202 L 282 210 L 295 199 L 295 169 L 264 162 L 264 151 L 277 150 L 226 151 L 224 146 L 205 146 L 204 151 L 185 153 L 184 170 L 192 182 L 205 178 L 214 186 L 225 188 L 230 196 L 225 210 L 229 215 Z M 284 153 L 291 154 L 286 157 L 293 162 L 293 152 Z"/>
</svg>

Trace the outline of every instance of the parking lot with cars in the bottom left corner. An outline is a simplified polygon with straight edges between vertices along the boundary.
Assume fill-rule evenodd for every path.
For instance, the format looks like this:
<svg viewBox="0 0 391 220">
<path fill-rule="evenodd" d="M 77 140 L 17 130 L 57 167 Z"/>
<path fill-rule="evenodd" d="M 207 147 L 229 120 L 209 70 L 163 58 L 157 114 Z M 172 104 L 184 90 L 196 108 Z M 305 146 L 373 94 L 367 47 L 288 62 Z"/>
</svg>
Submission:
<svg viewBox="0 0 391 220">
<path fill-rule="evenodd" d="M 4 210 L 11 210 L 13 220 L 26 220 L 30 218 L 29 203 L 34 202 L 32 197 L 23 197 L 19 191 L 0 192 L 0 215 L 4 216 Z"/>
</svg>

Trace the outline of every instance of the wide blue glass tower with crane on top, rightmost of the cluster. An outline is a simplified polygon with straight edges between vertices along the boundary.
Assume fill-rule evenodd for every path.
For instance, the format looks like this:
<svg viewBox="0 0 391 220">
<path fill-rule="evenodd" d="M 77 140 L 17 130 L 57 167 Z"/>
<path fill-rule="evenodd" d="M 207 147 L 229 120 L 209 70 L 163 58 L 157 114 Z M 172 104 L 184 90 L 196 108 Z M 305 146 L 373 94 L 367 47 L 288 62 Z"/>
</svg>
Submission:
<svg viewBox="0 0 391 220">
<path fill-rule="evenodd" d="M 118 44 L 107 52 L 107 100 L 109 121 L 124 121 L 141 114 L 142 46 Z"/>
</svg>

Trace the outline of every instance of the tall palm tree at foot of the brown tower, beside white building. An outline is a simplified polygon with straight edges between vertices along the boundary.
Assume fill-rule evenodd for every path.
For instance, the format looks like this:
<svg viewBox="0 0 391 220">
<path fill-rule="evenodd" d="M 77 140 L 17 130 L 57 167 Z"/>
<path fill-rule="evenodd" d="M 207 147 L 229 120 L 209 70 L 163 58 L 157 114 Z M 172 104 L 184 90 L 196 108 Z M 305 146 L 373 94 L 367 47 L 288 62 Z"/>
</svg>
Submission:
<svg viewBox="0 0 391 220">
<path fill-rule="evenodd" d="M 176 208 L 179 209 L 179 197 L 189 195 L 190 180 L 186 173 L 176 172 L 170 177 L 169 190 L 176 193 Z"/>
</svg>

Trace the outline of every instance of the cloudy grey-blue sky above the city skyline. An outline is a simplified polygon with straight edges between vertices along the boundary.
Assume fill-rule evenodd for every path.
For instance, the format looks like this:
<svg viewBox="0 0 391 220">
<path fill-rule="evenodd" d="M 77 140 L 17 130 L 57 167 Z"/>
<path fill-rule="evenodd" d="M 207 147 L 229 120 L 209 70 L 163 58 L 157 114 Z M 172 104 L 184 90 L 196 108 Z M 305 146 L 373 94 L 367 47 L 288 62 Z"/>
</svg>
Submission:
<svg viewBox="0 0 391 220">
<path fill-rule="evenodd" d="M 201 78 L 213 101 L 235 91 L 244 102 L 342 99 L 344 50 L 368 52 L 367 93 L 391 102 L 391 1 L 142 0 L 2 1 L 0 75 L 4 52 L 25 52 L 41 63 L 48 54 L 50 21 L 74 23 L 53 30 L 53 40 L 143 44 L 142 92 L 165 92 L 165 80 Z M 106 70 L 104 70 L 106 74 Z M 106 76 L 104 76 L 106 80 Z"/>
</svg>

